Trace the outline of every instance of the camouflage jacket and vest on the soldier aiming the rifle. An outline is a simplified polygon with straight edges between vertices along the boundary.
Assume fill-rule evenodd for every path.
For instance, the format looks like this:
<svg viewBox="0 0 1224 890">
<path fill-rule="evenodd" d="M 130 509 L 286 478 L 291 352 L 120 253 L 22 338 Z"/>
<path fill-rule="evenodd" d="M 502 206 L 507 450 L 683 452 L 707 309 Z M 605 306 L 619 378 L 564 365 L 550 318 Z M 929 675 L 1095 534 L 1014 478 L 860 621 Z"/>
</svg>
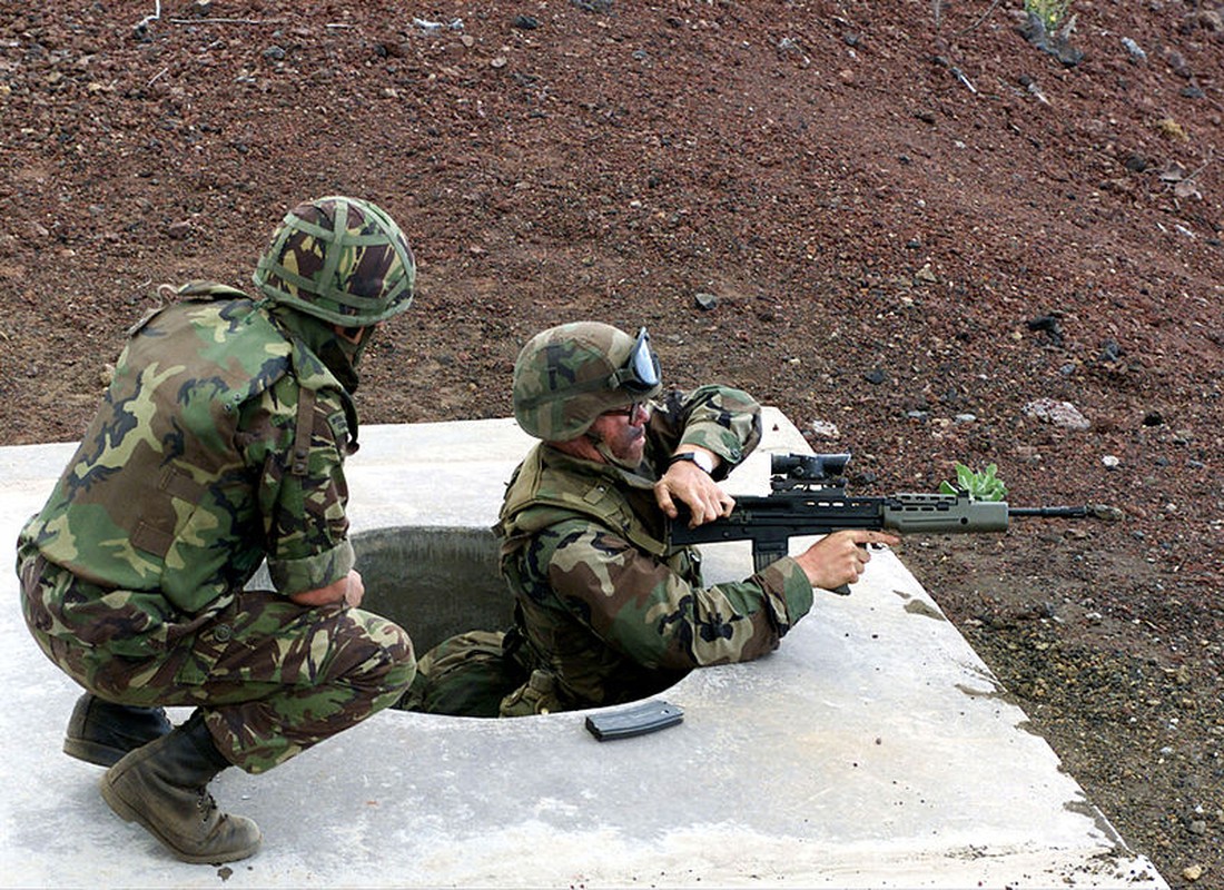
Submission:
<svg viewBox="0 0 1224 890">
<path fill-rule="evenodd" d="M 503 716 L 630 701 L 689 670 L 774 650 L 812 607 L 791 558 L 739 583 L 703 586 L 692 548 L 672 548 L 654 482 L 679 443 L 722 458 L 725 476 L 760 441 L 745 393 L 671 393 L 652 413 L 641 466 L 581 460 L 541 443 L 515 471 L 496 531 L 518 601 L 518 657 L 535 668 Z"/>
</svg>

